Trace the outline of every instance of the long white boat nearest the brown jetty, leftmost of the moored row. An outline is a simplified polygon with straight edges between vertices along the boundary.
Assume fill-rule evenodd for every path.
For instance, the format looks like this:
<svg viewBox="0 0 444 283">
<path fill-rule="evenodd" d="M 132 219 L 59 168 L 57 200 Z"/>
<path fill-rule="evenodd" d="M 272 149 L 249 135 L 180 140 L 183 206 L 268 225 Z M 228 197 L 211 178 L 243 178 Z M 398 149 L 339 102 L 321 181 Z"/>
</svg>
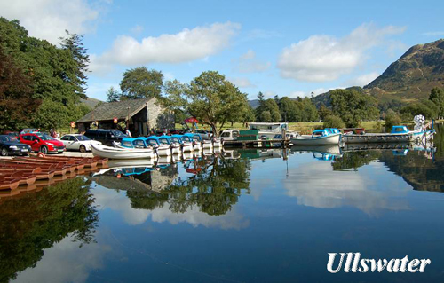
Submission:
<svg viewBox="0 0 444 283">
<path fill-rule="evenodd" d="M 154 158 L 152 148 L 116 148 L 107 145 L 91 145 L 92 154 L 109 159 Z"/>
</svg>

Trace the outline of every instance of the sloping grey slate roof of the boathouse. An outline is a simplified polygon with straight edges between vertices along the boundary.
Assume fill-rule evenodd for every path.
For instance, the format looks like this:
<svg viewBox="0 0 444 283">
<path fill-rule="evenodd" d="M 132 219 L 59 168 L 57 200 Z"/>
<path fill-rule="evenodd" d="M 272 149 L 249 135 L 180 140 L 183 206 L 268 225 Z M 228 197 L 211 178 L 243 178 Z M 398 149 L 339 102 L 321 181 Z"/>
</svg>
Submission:
<svg viewBox="0 0 444 283">
<path fill-rule="evenodd" d="M 128 112 L 130 112 L 130 116 L 137 114 L 151 99 L 154 98 L 127 99 L 123 101 L 104 103 L 92 110 L 90 113 L 84 115 L 82 118 L 77 120 L 77 122 L 109 121 L 113 120 L 114 118 L 126 120 L 128 117 Z M 128 109 L 128 107 L 130 107 L 130 109 Z"/>
</svg>

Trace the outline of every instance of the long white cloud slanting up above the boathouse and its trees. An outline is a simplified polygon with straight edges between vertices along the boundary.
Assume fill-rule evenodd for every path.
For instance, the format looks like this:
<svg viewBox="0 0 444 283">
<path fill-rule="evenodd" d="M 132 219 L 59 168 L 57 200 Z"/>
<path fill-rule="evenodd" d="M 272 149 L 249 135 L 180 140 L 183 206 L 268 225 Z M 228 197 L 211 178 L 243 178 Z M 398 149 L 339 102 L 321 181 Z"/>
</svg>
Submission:
<svg viewBox="0 0 444 283">
<path fill-rule="evenodd" d="M 115 64 L 135 66 L 205 59 L 226 48 L 240 28 L 240 24 L 228 21 L 184 28 L 174 35 L 149 36 L 141 42 L 129 35 L 121 35 L 115 39 L 109 51 L 100 56 L 91 56 L 91 70 L 96 72 Z"/>
</svg>

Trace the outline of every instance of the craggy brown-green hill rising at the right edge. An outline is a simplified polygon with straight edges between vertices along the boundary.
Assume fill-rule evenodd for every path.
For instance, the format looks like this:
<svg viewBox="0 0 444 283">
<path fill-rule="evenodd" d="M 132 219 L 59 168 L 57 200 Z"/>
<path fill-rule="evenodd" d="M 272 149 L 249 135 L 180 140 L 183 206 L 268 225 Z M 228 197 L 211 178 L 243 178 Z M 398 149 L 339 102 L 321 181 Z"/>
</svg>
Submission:
<svg viewBox="0 0 444 283">
<path fill-rule="evenodd" d="M 373 95 L 382 105 L 428 98 L 434 87 L 444 88 L 444 39 L 411 47 L 363 89 L 352 88 Z M 329 92 L 312 99 L 318 107 L 321 103 L 329 106 Z"/>
</svg>

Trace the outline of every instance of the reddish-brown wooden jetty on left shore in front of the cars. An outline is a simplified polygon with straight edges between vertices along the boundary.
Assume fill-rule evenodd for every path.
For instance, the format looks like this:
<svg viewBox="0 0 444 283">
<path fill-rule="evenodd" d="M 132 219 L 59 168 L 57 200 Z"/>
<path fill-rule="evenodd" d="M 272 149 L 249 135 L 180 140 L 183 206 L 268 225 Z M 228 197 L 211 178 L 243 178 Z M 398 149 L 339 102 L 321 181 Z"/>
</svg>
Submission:
<svg viewBox="0 0 444 283">
<path fill-rule="evenodd" d="M 14 157 L 0 159 L 0 198 L 36 192 L 46 185 L 107 167 L 107 159 L 71 157 Z"/>
</svg>

